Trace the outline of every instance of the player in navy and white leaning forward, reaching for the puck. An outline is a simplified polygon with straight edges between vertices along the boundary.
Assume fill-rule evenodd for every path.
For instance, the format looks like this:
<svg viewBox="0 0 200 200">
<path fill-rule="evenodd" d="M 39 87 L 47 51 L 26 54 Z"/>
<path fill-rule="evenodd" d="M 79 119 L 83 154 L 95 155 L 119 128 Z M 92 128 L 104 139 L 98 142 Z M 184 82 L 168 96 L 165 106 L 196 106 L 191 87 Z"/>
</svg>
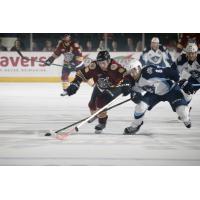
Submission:
<svg viewBox="0 0 200 200">
<path fill-rule="evenodd" d="M 125 135 L 135 134 L 143 125 L 145 112 L 161 101 L 168 101 L 185 126 L 191 127 L 187 102 L 176 83 L 179 80 L 176 69 L 161 68 L 155 65 L 142 68 L 141 63 L 137 61 L 130 63 L 127 71 L 126 79 L 132 85 L 132 100 L 136 103 L 136 107 L 134 120 L 131 126 L 125 128 Z"/>
</svg>

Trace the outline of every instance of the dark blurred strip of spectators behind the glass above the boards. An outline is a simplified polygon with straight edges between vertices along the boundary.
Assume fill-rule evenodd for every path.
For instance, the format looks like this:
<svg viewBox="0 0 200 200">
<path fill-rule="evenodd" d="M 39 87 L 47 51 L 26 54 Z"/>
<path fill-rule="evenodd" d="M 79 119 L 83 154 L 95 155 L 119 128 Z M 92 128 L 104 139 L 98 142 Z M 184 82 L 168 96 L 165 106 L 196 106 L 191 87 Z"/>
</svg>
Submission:
<svg viewBox="0 0 200 200">
<path fill-rule="evenodd" d="M 149 46 L 152 37 L 158 37 L 160 43 L 170 52 L 182 51 L 188 40 L 194 40 L 198 45 L 199 33 L 70 33 L 83 51 L 129 51 L 141 52 L 143 47 Z M 23 51 L 53 51 L 63 33 L 0 33 L 3 47 L 10 49 L 16 39 L 22 41 Z M 44 44 L 45 43 L 45 44 Z M 2 43 L 0 43 L 2 45 Z M 15 45 L 14 45 L 15 46 Z M 200 46 L 199 46 L 200 47 Z"/>
</svg>

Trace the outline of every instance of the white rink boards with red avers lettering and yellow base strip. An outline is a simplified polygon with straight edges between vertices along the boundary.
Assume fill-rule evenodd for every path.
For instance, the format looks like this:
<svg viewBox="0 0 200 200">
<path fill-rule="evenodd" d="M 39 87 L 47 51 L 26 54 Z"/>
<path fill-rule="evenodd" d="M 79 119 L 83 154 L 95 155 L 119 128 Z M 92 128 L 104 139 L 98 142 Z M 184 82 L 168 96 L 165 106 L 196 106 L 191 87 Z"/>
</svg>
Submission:
<svg viewBox="0 0 200 200">
<path fill-rule="evenodd" d="M 52 52 L 22 52 L 29 60 L 22 59 L 17 52 L 1 52 L 0 82 L 60 82 L 63 55 L 54 63 L 61 66 L 45 66 L 42 64 Z M 111 52 L 119 63 L 126 58 L 139 58 L 140 52 Z M 84 64 L 88 65 L 96 58 L 97 52 L 83 52 Z M 34 61 L 40 62 L 34 62 Z M 74 73 L 71 74 L 73 79 Z"/>
</svg>

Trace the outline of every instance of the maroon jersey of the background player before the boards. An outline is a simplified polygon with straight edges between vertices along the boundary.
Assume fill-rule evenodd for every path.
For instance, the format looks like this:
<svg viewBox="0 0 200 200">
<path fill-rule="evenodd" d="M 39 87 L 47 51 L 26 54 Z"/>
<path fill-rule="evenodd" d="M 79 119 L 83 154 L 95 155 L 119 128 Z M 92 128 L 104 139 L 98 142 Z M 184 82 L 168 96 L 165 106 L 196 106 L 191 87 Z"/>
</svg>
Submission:
<svg viewBox="0 0 200 200">
<path fill-rule="evenodd" d="M 61 54 L 64 56 L 64 64 L 66 65 L 79 67 L 79 65 L 83 64 L 83 55 L 78 43 L 73 41 L 59 41 L 56 49 L 54 50 L 53 56 L 57 58 Z"/>
</svg>

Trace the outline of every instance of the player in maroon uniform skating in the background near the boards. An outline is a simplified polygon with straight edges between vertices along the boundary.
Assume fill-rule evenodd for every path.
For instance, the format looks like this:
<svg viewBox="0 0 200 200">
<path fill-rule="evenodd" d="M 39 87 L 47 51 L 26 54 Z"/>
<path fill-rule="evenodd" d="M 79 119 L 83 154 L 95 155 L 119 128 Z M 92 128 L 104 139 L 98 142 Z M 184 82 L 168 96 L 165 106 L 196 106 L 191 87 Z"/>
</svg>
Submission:
<svg viewBox="0 0 200 200">
<path fill-rule="evenodd" d="M 56 49 L 45 61 L 45 64 L 48 66 L 51 65 L 61 54 L 64 56 L 64 64 L 61 76 L 64 90 L 70 85 L 69 74 L 72 71 L 76 71 L 77 69 L 84 67 L 84 63 L 80 46 L 78 43 L 72 40 L 70 34 L 65 34 L 62 40 L 58 42 Z"/>
</svg>

